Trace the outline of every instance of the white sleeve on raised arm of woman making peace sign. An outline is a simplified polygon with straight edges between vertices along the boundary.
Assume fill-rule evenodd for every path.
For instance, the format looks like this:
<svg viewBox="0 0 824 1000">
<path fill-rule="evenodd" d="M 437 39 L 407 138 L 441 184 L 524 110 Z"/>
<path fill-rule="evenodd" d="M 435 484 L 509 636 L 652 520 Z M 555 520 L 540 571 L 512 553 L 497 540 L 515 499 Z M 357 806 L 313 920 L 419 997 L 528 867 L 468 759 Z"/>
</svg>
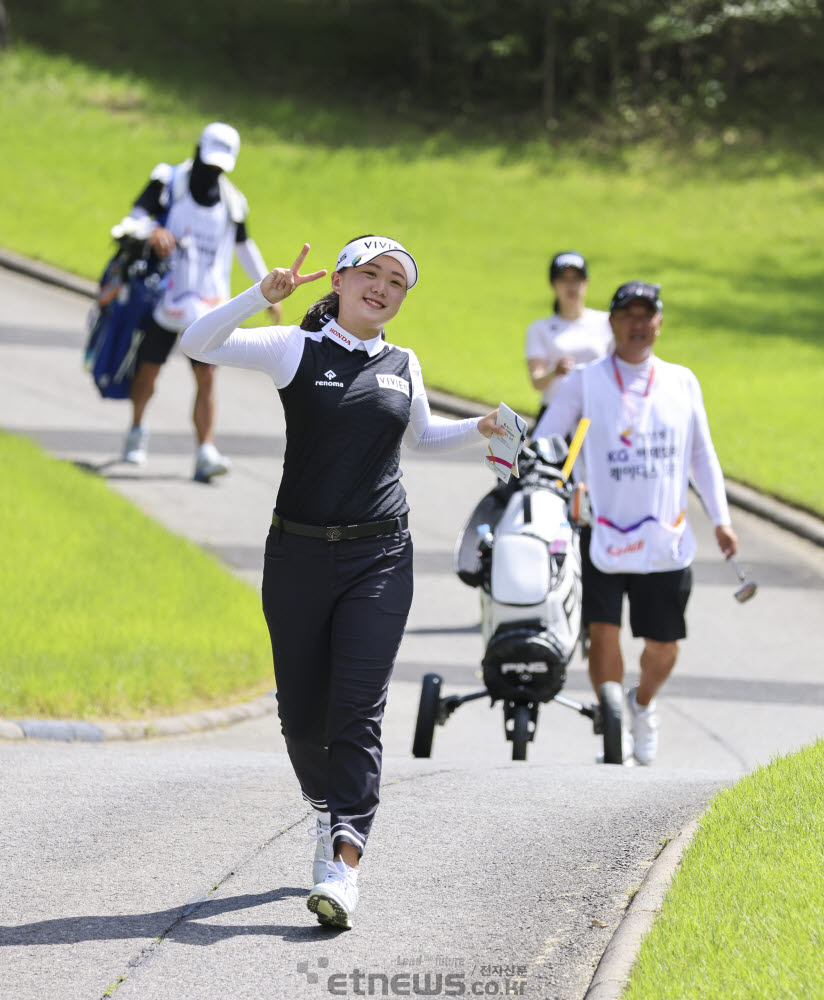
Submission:
<svg viewBox="0 0 824 1000">
<path fill-rule="evenodd" d="M 267 305 L 260 284 L 252 285 L 195 320 L 184 331 L 180 346 L 195 361 L 266 372 L 282 389 L 298 370 L 306 340 L 304 332 L 297 326 L 238 329 L 243 320 Z"/>
</svg>

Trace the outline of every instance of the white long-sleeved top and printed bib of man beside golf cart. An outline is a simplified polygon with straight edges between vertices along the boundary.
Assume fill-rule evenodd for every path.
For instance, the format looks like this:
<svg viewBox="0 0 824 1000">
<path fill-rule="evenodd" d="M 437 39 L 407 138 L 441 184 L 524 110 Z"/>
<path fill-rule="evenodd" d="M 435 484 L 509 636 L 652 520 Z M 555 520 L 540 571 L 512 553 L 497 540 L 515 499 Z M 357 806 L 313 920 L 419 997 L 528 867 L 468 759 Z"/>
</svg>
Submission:
<svg viewBox="0 0 824 1000">
<path fill-rule="evenodd" d="M 687 522 L 692 471 L 713 524 L 729 524 L 724 477 L 701 389 L 681 365 L 615 355 L 564 379 L 533 437 L 566 435 L 592 421 L 583 476 L 593 509 L 590 556 L 605 573 L 653 573 L 688 566 L 695 538 Z"/>
</svg>

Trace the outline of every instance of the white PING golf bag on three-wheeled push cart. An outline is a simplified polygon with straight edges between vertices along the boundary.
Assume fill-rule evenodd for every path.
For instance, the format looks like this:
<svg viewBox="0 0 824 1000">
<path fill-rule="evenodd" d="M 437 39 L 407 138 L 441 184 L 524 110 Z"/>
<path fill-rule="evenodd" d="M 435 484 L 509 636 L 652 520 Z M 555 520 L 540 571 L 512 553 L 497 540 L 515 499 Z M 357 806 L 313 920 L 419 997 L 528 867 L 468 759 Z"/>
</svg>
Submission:
<svg viewBox="0 0 824 1000">
<path fill-rule="evenodd" d="M 579 428 L 580 431 L 580 428 Z M 585 652 L 581 626 L 580 528 L 590 519 L 586 488 L 569 478 L 583 440 L 568 449 L 563 438 L 538 439 L 523 448 L 520 478 L 499 483 L 476 506 L 455 547 L 455 572 L 481 597 L 485 690 L 441 694 L 442 677 L 423 679 L 412 753 L 429 757 L 436 725 L 469 701 L 503 702 L 504 731 L 512 759 L 526 760 L 535 738 L 538 709 L 556 701 L 592 720 L 603 735 L 604 762 L 622 764 L 624 733 L 621 685 L 601 685 L 599 703 L 585 705 L 561 691 L 576 646 Z"/>
</svg>

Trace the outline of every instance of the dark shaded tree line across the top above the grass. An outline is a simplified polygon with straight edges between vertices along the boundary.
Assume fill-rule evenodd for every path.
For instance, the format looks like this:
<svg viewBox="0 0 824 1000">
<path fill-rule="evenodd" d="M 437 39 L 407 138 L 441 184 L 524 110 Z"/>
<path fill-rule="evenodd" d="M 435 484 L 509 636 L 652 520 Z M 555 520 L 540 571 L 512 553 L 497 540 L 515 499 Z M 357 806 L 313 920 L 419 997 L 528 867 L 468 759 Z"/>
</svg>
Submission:
<svg viewBox="0 0 824 1000">
<path fill-rule="evenodd" d="M 7 0 L 19 37 L 104 63 L 447 115 L 591 119 L 821 101 L 824 0 Z"/>
</svg>

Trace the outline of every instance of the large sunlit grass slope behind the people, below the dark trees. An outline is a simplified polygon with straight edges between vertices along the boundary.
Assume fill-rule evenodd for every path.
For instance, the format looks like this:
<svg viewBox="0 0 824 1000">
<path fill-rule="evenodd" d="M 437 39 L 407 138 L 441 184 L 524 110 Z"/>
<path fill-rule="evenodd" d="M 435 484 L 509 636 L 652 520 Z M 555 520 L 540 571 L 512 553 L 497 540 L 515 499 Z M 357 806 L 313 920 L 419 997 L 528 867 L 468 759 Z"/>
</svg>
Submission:
<svg viewBox="0 0 824 1000">
<path fill-rule="evenodd" d="M 817 160 L 734 130 L 609 151 L 461 145 L 401 116 L 208 86 L 193 97 L 25 46 L 4 55 L 3 243 L 97 277 L 150 168 L 224 118 L 241 131 L 234 176 L 270 266 L 309 240 L 307 266 L 328 267 L 370 231 L 415 253 L 421 281 L 390 334 L 429 386 L 534 412 L 524 333 L 550 308 L 548 258 L 575 246 L 590 305 L 631 277 L 662 282 L 660 354 L 698 375 L 726 473 L 824 512 L 824 466 L 803 460 L 824 451 Z M 246 280 L 236 268 L 235 290 Z M 300 289 L 285 320 L 325 289 Z"/>
</svg>

